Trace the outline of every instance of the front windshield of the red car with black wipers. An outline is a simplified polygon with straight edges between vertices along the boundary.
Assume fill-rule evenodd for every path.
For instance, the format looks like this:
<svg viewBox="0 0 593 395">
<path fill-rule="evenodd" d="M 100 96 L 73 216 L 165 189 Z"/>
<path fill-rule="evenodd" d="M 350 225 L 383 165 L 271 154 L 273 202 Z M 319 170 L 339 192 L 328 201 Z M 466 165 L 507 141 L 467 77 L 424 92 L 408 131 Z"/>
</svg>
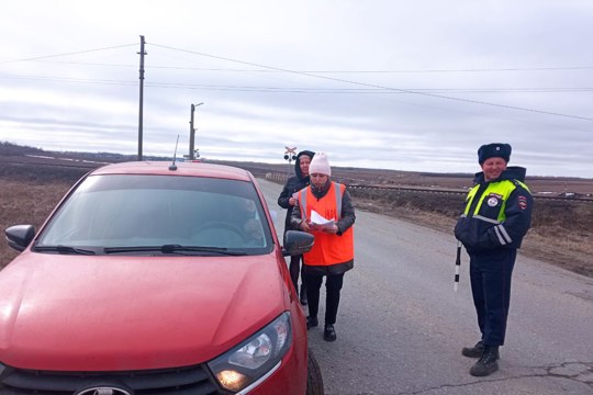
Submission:
<svg viewBox="0 0 593 395">
<path fill-rule="evenodd" d="M 251 182 L 183 176 L 88 177 L 60 205 L 35 251 L 220 256 L 272 249 Z"/>
</svg>

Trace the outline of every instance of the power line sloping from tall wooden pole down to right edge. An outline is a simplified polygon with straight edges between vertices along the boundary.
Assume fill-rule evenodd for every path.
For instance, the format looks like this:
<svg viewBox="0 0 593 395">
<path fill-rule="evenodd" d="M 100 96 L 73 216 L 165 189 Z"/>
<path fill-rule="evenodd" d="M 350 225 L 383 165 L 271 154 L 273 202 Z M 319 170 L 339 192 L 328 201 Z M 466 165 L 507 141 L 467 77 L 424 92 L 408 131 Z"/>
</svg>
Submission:
<svg viewBox="0 0 593 395">
<path fill-rule="evenodd" d="M 266 69 L 271 69 L 271 70 L 284 71 L 284 72 L 288 72 L 288 74 L 294 74 L 294 75 L 300 75 L 300 76 L 306 76 L 306 77 L 311 77 L 311 78 L 320 78 L 320 79 L 326 79 L 326 80 L 336 81 L 336 82 L 344 82 L 344 83 L 357 84 L 357 86 L 369 87 L 369 88 L 379 88 L 379 89 L 385 89 L 385 90 L 392 90 L 392 91 L 405 92 L 405 93 L 410 93 L 410 94 L 418 94 L 418 95 L 424 95 L 424 97 L 429 97 L 429 98 L 437 98 L 437 99 L 445 99 L 445 100 L 455 100 L 455 101 L 460 101 L 460 102 L 466 102 L 466 103 L 472 103 L 472 104 L 482 104 L 482 105 L 495 106 L 495 108 L 500 108 L 500 109 L 508 109 L 508 110 L 526 111 L 526 112 L 533 112 L 533 113 L 538 113 L 538 114 L 546 114 L 546 115 L 553 115 L 553 116 L 562 116 L 562 117 L 569 117 L 569 119 L 575 119 L 575 120 L 583 120 L 583 121 L 591 121 L 591 122 L 593 122 L 593 119 L 591 119 L 591 117 L 585 117 L 585 116 L 571 115 L 571 114 L 562 114 L 562 113 L 557 113 L 557 112 L 551 112 L 551 111 L 542 111 L 542 110 L 535 110 L 535 109 L 527 109 L 527 108 L 519 108 L 519 106 L 508 105 L 508 104 L 490 103 L 490 102 L 480 101 L 480 100 L 470 100 L 470 99 L 452 98 L 452 97 L 443 95 L 443 94 L 428 93 L 428 92 L 419 92 L 419 91 L 412 91 L 412 90 L 409 90 L 409 89 L 402 89 L 402 88 L 383 87 L 383 86 L 379 86 L 379 84 L 374 84 L 374 83 L 357 82 L 357 81 L 351 81 L 351 80 L 347 80 L 347 79 L 343 79 L 343 78 L 318 76 L 318 75 L 314 75 L 314 74 L 310 74 L 310 72 L 294 71 L 294 70 L 283 69 L 283 68 L 280 68 L 280 67 L 273 67 L 273 66 L 260 65 L 260 64 L 255 64 L 255 63 L 250 63 L 250 61 L 243 61 L 243 60 L 237 60 L 237 59 L 226 58 L 226 57 L 222 57 L 222 56 L 215 56 L 215 55 L 210 55 L 210 54 L 204 54 L 204 53 L 199 53 L 199 52 L 193 52 L 193 50 L 188 50 L 188 49 L 175 48 L 175 47 L 170 47 L 170 46 L 166 46 L 166 45 L 158 45 L 158 44 L 153 44 L 153 45 L 154 45 L 154 46 L 157 46 L 157 47 L 161 47 L 161 48 L 171 49 L 171 50 L 178 50 L 178 52 L 182 52 L 182 53 L 188 53 L 188 54 L 194 54 L 194 55 L 199 55 L 199 56 L 210 57 L 210 58 L 213 58 L 213 59 L 225 60 L 225 61 L 233 61 L 233 63 L 238 63 L 238 64 L 243 64 L 243 65 L 249 65 L 249 66 L 254 66 L 254 67 L 260 67 L 260 68 L 266 68 Z"/>
</svg>

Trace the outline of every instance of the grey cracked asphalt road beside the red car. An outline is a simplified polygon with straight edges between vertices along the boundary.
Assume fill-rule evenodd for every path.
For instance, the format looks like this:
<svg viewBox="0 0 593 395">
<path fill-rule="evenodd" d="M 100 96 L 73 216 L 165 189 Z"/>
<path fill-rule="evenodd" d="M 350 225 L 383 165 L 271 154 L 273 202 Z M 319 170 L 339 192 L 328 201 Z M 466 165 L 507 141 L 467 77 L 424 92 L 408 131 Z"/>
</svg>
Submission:
<svg viewBox="0 0 593 395">
<path fill-rule="evenodd" d="M 281 235 L 281 185 L 258 182 Z M 309 332 L 326 394 L 593 394 L 593 279 L 519 253 L 501 369 L 478 379 L 460 352 L 479 331 L 466 255 L 454 292 L 452 234 L 358 211 L 355 248 L 337 341 Z"/>
</svg>

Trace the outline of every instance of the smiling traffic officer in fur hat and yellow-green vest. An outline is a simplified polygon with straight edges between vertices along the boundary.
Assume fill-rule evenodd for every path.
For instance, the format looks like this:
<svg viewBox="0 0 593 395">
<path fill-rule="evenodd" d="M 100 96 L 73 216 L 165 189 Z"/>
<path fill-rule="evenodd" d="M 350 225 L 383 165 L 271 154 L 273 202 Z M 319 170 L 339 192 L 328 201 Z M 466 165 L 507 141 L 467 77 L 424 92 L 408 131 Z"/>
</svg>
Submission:
<svg viewBox="0 0 593 395">
<path fill-rule="evenodd" d="M 534 202 L 524 183 L 525 168 L 507 167 L 508 144 L 480 147 L 475 185 L 455 226 L 456 238 L 470 257 L 470 282 L 482 337 L 461 353 L 479 358 L 470 369 L 475 376 L 499 370 L 499 347 L 504 345 L 513 267 L 523 237 L 532 225 Z"/>
</svg>

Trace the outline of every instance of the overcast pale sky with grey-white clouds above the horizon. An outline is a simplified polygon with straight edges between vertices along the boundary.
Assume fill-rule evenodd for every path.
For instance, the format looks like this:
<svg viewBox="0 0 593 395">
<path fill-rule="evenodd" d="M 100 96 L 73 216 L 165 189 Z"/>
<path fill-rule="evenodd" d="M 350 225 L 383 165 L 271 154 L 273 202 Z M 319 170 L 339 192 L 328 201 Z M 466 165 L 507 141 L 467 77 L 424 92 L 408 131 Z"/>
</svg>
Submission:
<svg viewBox="0 0 593 395">
<path fill-rule="evenodd" d="M 590 0 L 4 0 L 0 140 L 144 155 L 593 178 Z"/>
</svg>

